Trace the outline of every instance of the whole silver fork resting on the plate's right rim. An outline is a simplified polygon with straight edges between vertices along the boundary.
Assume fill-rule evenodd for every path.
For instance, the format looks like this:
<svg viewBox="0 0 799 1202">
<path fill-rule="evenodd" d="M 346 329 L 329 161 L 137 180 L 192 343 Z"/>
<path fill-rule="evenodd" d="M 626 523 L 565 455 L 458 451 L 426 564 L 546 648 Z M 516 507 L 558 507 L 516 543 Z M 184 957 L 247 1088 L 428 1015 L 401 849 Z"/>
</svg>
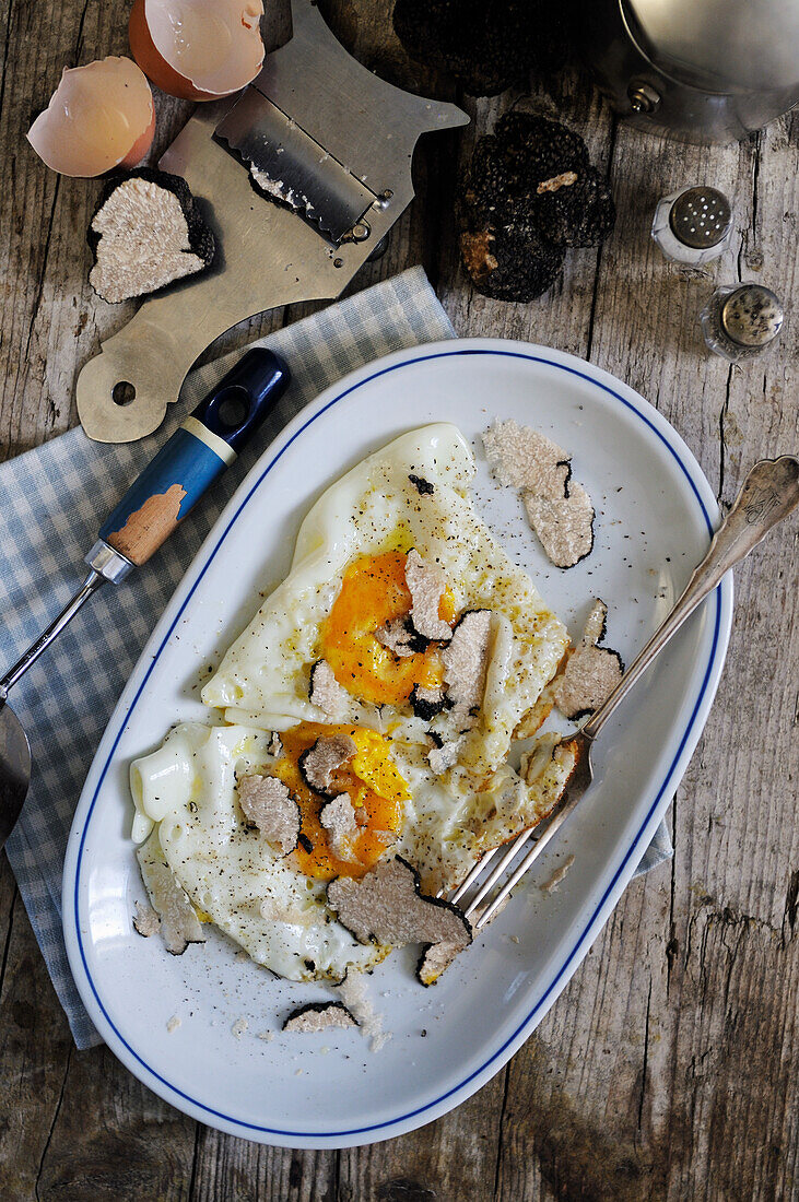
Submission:
<svg viewBox="0 0 799 1202">
<path fill-rule="evenodd" d="M 562 742 L 577 745 L 577 767 L 561 801 L 551 815 L 548 815 L 538 826 L 523 831 L 520 835 L 509 843 L 509 846 L 505 847 L 502 845 L 502 847 L 496 847 L 487 852 L 471 870 L 466 880 L 449 894 L 451 902 L 459 902 L 465 897 L 472 886 L 481 881 L 489 862 L 496 861 L 497 855 L 501 852 L 499 861 L 485 874 L 475 894 L 470 898 L 469 904 L 464 908 L 464 914 L 467 918 L 472 920 L 475 929 L 479 929 L 487 922 L 490 922 L 511 889 L 518 885 L 544 847 L 554 839 L 570 814 L 573 814 L 583 801 L 594 779 L 594 768 L 591 764 L 594 740 L 610 715 L 615 713 L 616 707 L 624 701 L 655 656 L 660 655 L 686 618 L 716 588 L 722 577 L 735 564 L 749 555 L 750 551 L 757 546 L 768 531 L 782 522 L 783 518 L 787 518 L 797 505 L 799 505 L 799 459 L 786 454 L 779 459 L 761 459 L 759 463 L 756 463 L 744 481 L 735 504 L 716 530 L 706 555 L 694 569 L 685 591 L 674 608 L 657 627 L 643 650 L 636 656 L 600 709 L 577 732 L 564 736 Z M 531 844 L 529 851 L 513 867 L 514 861 L 527 844 Z M 488 898 L 505 873 L 509 873 L 507 880 L 496 891 L 491 900 L 484 905 L 485 898 Z"/>
</svg>

